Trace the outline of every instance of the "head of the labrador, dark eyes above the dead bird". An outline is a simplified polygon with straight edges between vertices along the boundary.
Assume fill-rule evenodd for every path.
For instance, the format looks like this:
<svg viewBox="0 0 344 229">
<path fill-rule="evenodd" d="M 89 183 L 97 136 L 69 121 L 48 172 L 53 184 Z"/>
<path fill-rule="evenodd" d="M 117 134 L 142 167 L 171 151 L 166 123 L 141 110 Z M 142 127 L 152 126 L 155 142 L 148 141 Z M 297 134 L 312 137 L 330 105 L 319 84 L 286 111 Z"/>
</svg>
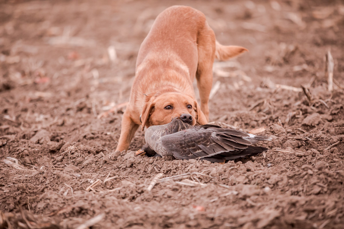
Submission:
<svg viewBox="0 0 344 229">
<path fill-rule="evenodd" d="M 147 95 L 141 113 L 142 130 L 145 126 L 163 125 L 182 114 L 192 116 L 191 125 L 198 121 L 197 101 L 179 92 L 166 92 L 156 96 Z"/>
</svg>

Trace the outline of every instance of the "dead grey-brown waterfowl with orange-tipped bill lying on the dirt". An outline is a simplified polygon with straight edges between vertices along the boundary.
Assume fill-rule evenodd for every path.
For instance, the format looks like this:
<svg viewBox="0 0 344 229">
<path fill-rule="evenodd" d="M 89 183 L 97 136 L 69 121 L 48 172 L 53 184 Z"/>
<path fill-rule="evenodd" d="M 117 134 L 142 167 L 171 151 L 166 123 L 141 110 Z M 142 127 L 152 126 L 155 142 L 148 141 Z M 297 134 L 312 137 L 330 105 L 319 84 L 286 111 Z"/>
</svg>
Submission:
<svg viewBox="0 0 344 229">
<path fill-rule="evenodd" d="M 148 127 L 144 139 L 147 144 L 136 155 L 157 153 L 184 160 L 224 162 L 264 152 L 268 148 L 252 145 L 272 138 L 216 125 L 191 126 L 176 117 L 168 124 Z"/>
</svg>

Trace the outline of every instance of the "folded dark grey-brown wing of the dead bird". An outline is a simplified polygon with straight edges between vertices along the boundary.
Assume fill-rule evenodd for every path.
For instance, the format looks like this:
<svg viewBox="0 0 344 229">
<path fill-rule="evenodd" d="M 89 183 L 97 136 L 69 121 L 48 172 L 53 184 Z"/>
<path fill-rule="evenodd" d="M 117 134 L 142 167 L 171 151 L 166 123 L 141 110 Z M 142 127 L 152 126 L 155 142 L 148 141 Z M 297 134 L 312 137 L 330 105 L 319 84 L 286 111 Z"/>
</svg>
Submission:
<svg viewBox="0 0 344 229">
<path fill-rule="evenodd" d="M 162 146 L 178 159 L 213 162 L 245 157 L 267 150 L 252 147 L 249 134 L 213 125 L 196 126 L 161 137 Z"/>
</svg>

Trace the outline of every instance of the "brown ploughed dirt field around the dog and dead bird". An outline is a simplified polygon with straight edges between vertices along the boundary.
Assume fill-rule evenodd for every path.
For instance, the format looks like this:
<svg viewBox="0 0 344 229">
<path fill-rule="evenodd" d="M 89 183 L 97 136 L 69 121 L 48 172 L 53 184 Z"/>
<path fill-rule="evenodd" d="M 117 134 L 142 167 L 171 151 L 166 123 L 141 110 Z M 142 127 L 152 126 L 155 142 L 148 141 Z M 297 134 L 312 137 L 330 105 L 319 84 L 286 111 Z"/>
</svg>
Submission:
<svg viewBox="0 0 344 229">
<path fill-rule="evenodd" d="M 124 107 L 97 116 L 128 101 L 140 43 L 174 4 L 250 50 L 215 63 L 210 119 L 265 127 L 266 153 L 218 164 L 115 152 Z M 0 228 L 344 228 L 343 37 L 339 0 L 0 3 Z M 139 130 L 130 150 L 143 144 Z M 148 192 L 158 173 L 187 175 Z"/>
</svg>

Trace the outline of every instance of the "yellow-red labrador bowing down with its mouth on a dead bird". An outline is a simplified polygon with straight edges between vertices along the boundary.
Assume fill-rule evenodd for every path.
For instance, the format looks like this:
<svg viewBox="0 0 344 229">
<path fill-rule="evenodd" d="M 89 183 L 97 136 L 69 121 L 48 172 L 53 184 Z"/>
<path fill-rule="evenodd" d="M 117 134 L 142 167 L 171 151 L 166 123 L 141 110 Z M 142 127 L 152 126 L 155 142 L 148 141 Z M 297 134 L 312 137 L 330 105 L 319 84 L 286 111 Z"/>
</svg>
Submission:
<svg viewBox="0 0 344 229">
<path fill-rule="evenodd" d="M 227 60 L 244 51 L 219 44 L 204 14 L 196 9 L 173 6 L 160 13 L 138 53 L 116 150 L 128 150 L 140 125 L 143 130 L 178 116 L 192 125 L 207 124 L 214 59 Z M 195 77 L 201 106 L 192 85 Z"/>
</svg>

